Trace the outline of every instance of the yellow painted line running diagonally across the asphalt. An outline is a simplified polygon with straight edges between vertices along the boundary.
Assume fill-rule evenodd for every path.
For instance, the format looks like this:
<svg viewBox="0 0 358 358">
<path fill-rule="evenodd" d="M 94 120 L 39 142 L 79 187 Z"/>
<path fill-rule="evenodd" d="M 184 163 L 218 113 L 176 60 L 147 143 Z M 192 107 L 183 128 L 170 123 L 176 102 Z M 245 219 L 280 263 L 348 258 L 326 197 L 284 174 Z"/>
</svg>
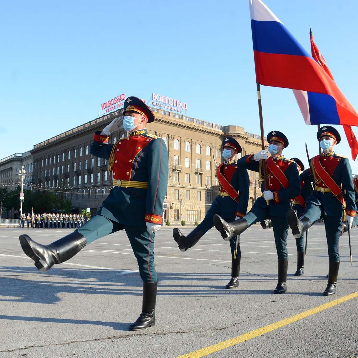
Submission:
<svg viewBox="0 0 358 358">
<path fill-rule="evenodd" d="M 296 314 L 296 315 L 294 315 L 292 317 L 289 317 L 289 318 L 283 319 L 281 321 L 272 323 L 272 324 L 270 324 L 268 326 L 255 329 L 255 330 L 253 330 L 251 332 L 242 334 L 242 335 L 240 335 L 238 337 L 225 340 L 224 342 L 213 344 L 213 345 L 210 345 L 209 347 L 205 347 L 205 348 L 202 348 L 202 349 L 199 349 L 199 350 L 195 350 L 194 352 L 191 352 L 191 353 L 188 353 L 188 354 L 180 355 L 180 357 L 177 357 L 177 358 L 199 358 L 199 357 L 204 357 L 205 355 L 217 352 L 218 350 L 231 347 L 232 345 L 236 345 L 236 344 L 245 342 L 245 341 L 247 341 L 247 340 L 249 340 L 251 338 L 255 338 L 255 337 L 258 337 L 260 335 L 263 335 L 263 334 L 265 334 L 267 332 L 271 332 L 271 331 L 273 331 L 273 330 L 275 330 L 277 328 L 281 328 L 283 326 L 286 326 L 287 324 L 293 323 L 293 322 L 298 321 L 298 320 L 300 320 L 302 318 L 308 317 L 310 315 L 313 315 L 315 313 L 318 313 L 320 311 L 323 311 L 323 310 L 325 310 L 327 308 L 333 307 L 335 305 L 338 305 L 338 304 L 340 304 L 342 302 L 348 301 L 348 300 L 350 300 L 352 298 L 355 298 L 355 297 L 358 297 L 358 292 L 355 292 L 355 293 L 352 293 L 350 295 L 341 297 L 341 298 L 339 298 L 337 300 L 334 300 L 334 301 L 330 301 L 330 302 L 325 303 L 323 305 L 320 305 L 318 307 L 312 308 L 312 309 L 310 309 L 308 311 L 305 311 L 305 312 Z"/>
</svg>

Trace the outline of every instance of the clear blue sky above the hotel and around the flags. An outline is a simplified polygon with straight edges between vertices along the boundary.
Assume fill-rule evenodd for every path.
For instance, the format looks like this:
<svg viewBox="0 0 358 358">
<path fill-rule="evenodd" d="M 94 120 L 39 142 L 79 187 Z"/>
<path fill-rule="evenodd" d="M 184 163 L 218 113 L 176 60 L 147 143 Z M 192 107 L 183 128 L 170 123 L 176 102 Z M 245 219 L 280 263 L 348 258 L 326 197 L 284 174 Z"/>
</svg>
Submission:
<svg viewBox="0 0 358 358">
<path fill-rule="evenodd" d="M 266 0 L 310 53 L 309 26 L 339 88 L 358 111 L 357 1 Z M 3 1 L 0 157 L 98 117 L 125 93 L 187 102 L 186 115 L 260 134 L 248 0 Z M 261 86 L 265 135 L 308 164 L 318 154 L 290 89 Z M 342 126 L 336 152 L 353 162 Z M 358 136 L 358 129 L 353 127 Z M 0 158 L 0 159 L 1 159 Z"/>
</svg>

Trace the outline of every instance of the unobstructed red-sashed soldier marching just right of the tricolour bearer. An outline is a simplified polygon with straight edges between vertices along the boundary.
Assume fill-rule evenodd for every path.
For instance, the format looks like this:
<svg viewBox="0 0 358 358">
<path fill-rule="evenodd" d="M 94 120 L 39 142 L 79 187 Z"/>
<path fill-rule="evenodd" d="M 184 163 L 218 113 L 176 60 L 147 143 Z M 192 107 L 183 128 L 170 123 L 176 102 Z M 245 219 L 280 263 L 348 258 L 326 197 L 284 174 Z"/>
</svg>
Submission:
<svg viewBox="0 0 358 358">
<path fill-rule="evenodd" d="M 323 126 L 317 132 L 322 153 L 310 161 L 315 190 L 306 200 L 303 216 L 297 218 L 294 210 L 287 212 L 287 223 L 295 238 L 299 238 L 314 222 L 324 219 L 328 246 L 328 284 L 324 296 L 334 295 L 339 271 L 339 236 L 342 227 L 343 207 L 346 205 L 347 222 L 352 227 L 356 213 L 352 169 L 348 158 L 335 154 L 334 146 L 340 142 L 338 131 Z M 346 192 L 346 195 L 343 195 Z M 345 196 L 345 197 L 344 197 Z"/>
</svg>

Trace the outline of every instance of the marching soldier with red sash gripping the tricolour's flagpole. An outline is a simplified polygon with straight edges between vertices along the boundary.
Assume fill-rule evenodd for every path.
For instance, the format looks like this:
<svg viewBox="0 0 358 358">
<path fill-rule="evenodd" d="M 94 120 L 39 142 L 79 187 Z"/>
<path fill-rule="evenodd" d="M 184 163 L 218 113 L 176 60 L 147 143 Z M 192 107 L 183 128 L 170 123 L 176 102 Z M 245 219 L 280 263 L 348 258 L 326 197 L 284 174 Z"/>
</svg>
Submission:
<svg viewBox="0 0 358 358">
<path fill-rule="evenodd" d="M 287 290 L 288 252 L 286 246 L 288 225 L 286 213 L 290 209 L 290 199 L 300 194 L 300 178 L 294 161 L 285 159 L 282 150 L 289 145 L 287 137 L 272 131 L 267 135 L 270 158 L 267 151 L 246 155 L 237 161 L 243 168 L 258 171 L 262 180 L 262 197 L 256 199 L 252 209 L 243 217 L 233 222 L 226 222 L 219 215 L 213 217 L 215 227 L 224 240 L 240 235 L 252 224 L 271 218 L 274 229 L 276 251 L 278 256 L 278 280 L 275 294 L 283 294 Z M 267 181 L 269 190 L 265 190 L 261 159 L 267 159 Z"/>
</svg>

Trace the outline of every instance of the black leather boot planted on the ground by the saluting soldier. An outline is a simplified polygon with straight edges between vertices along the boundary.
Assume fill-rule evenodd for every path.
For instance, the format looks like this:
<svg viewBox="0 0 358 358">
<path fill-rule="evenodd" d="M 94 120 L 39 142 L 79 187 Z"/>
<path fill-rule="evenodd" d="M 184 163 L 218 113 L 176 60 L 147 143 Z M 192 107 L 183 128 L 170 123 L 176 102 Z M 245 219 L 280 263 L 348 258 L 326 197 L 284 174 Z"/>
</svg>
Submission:
<svg viewBox="0 0 358 358">
<path fill-rule="evenodd" d="M 142 313 L 138 319 L 129 326 L 130 331 L 137 331 L 155 326 L 155 301 L 158 281 L 143 281 Z"/>
</svg>

